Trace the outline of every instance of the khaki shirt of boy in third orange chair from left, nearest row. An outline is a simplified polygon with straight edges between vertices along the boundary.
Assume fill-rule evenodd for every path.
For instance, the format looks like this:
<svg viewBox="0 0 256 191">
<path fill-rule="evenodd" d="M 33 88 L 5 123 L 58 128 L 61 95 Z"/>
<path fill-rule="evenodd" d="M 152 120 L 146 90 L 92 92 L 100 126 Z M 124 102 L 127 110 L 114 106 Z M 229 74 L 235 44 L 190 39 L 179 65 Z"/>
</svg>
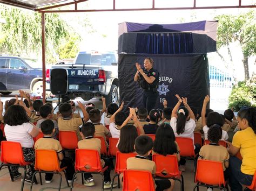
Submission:
<svg viewBox="0 0 256 191">
<path fill-rule="evenodd" d="M 100 158 L 100 149 L 102 148 L 102 144 L 100 142 L 100 139 L 93 138 L 93 137 L 85 137 L 85 139 L 80 140 L 78 142 L 78 148 L 97 150 Z M 102 166 L 105 165 L 105 162 L 103 159 L 100 159 L 100 162 Z"/>
</svg>

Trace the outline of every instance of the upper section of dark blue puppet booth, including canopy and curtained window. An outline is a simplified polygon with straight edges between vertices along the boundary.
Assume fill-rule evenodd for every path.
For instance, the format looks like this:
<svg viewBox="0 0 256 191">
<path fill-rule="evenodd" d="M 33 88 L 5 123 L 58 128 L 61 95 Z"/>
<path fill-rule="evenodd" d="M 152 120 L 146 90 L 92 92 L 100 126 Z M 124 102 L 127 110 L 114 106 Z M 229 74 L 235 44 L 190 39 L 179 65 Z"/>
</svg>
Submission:
<svg viewBox="0 0 256 191">
<path fill-rule="evenodd" d="M 119 24 L 118 53 L 200 54 L 216 51 L 216 21 Z"/>
</svg>

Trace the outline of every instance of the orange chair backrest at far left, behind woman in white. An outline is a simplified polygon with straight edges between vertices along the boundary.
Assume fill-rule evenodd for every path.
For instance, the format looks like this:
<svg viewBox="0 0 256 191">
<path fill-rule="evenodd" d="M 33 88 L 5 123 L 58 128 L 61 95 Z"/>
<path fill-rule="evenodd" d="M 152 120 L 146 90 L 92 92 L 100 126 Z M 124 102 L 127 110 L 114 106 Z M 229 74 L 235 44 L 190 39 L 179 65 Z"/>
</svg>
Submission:
<svg viewBox="0 0 256 191">
<path fill-rule="evenodd" d="M 1 161 L 5 164 L 18 164 L 21 166 L 27 165 L 21 147 L 21 143 L 2 141 L 1 142 Z"/>
</svg>

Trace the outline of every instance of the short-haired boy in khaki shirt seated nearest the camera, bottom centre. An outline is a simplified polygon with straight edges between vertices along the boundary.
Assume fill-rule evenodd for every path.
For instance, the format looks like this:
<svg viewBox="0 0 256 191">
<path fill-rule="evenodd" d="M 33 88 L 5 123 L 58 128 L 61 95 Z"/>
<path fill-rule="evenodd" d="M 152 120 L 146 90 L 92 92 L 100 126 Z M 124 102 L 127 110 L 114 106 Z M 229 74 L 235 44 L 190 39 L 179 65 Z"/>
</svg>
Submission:
<svg viewBox="0 0 256 191">
<path fill-rule="evenodd" d="M 127 169 L 137 169 L 143 171 L 150 171 L 152 175 L 156 173 L 156 164 L 147 158 L 153 147 L 153 140 L 142 135 L 135 139 L 135 151 L 137 153 L 136 157 L 131 157 L 127 159 Z M 120 180 L 123 178 L 123 173 L 120 174 Z M 122 182 L 122 181 L 121 181 Z M 143 183 L 143 182 L 142 182 Z M 164 179 L 155 180 L 156 190 L 172 190 L 174 187 L 174 180 Z"/>
</svg>

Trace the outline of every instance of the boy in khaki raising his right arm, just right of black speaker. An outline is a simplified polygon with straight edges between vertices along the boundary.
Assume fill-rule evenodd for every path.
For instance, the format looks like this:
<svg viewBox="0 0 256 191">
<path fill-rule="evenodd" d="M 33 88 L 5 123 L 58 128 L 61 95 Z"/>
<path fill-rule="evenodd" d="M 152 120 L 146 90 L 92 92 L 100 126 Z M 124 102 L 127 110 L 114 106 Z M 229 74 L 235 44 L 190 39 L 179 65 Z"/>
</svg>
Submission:
<svg viewBox="0 0 256 191">
<path fill-rule="evenodd" d="M 77 102 L 78 107 L 82 110 L 84 117 L 82 118 L 73 118 L 72 107 L 69 103 L 64 103 L 59 108 L 60 114 L 62 117 L 58 118 L 59 131 L 76 131 L 78 140 L 81 140 L 79 126 L 88 121 L 89 116 L 87 111 L 84 109 L 84 105 L 81 102 Z"/>
</svg>

